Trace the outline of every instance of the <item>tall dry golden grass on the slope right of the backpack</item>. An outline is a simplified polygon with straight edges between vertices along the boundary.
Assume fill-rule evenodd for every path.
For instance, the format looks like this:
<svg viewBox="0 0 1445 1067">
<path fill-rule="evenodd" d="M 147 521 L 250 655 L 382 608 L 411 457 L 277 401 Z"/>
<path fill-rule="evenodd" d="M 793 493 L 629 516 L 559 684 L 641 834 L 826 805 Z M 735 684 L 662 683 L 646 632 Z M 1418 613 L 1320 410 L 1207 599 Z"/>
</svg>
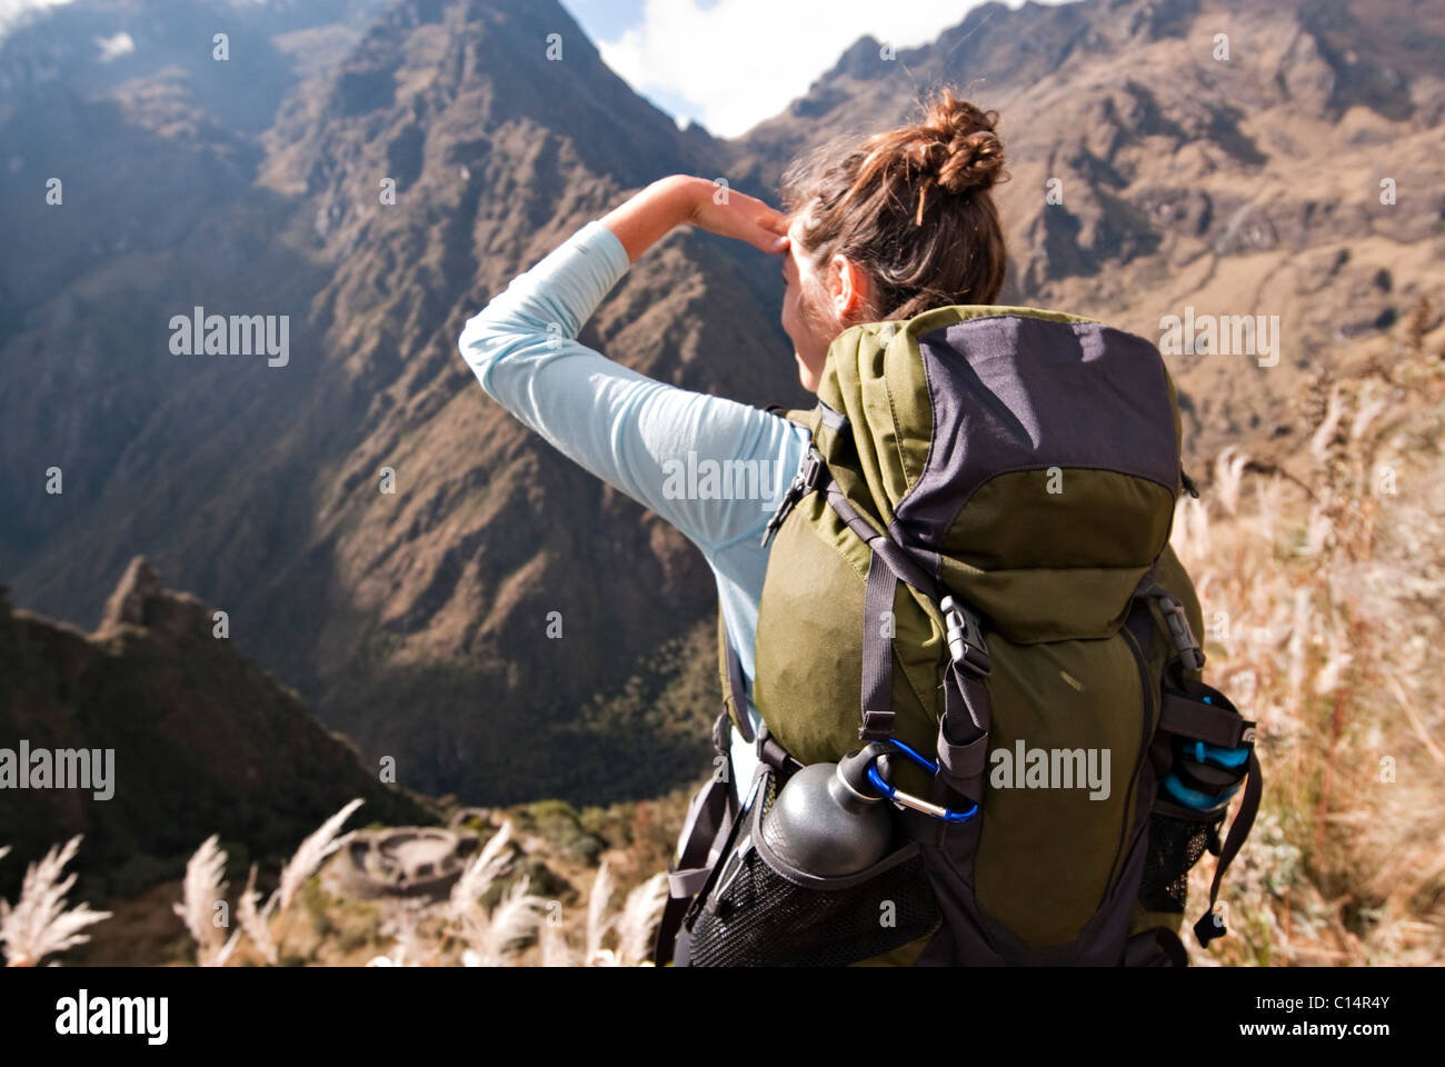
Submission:
<svg viewBox="0 0 1445 1067">
<path fill-rule="evenodd" d="M 1209 680 L 1260 724 L 1264 804 L 1196 963 L 1445 961 L 1445 364 L 1422 304 L 1302 398 L 1293 479 L 1220 457 L 1185 500 Z M 1248 474 L 1251 466 L 1254 474 Z M 1194 872 L 1194 907 L 1212 863 Z M 1192 918 L 1192 917 L 1191 917 Z"/>
</svg>

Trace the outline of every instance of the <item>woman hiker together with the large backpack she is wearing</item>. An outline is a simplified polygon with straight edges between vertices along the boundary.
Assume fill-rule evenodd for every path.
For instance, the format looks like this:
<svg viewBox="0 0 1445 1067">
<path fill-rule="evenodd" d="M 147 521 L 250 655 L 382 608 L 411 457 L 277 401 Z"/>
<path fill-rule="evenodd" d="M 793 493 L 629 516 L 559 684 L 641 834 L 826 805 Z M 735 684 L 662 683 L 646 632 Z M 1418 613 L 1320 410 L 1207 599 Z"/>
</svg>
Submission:
<svg viewBox="0 0 1445 1067">
<path fill-rule="evenodd" d="M 1199 678 L 1168 548 L 1192 490 L 1173 385 L 1143 338 L 996 307 L 996 126 L 945 88 L 918 123 L 795 160 L 783 211 L 663 178 L 461 334 L 487 393 L 717 578 L 727 774 L 692 800 L 662 963 L 1178 966 L 1189 867 L 1247 779 L 1195 925 L 1222 930 L 1259 772 L 1253 724 Z M 777 257 L 814 409 L 575 340 L 679 224 Z M 707 461 L 792 481 L 766 509 L 679 492 Z"/>
</svg>

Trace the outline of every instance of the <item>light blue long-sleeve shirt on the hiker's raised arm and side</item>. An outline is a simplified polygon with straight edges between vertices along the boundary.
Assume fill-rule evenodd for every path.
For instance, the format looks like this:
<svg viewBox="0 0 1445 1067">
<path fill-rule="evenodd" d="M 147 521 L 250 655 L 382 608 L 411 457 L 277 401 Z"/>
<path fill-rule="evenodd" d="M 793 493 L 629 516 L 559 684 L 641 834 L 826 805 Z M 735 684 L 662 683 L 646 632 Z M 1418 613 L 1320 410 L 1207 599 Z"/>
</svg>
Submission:
<svg viewBox="0 0 1445 1067">
<path fill-rule="evenodd" d="M 751 693 L 759 542 L 808 448 L 808 431 L 746 403 L 655 382 L 577 340 L 627 273 L 627 250 L 591 221 L 467 321 L 458 346 L 481 387 L 597 477 L 695 544 L 718 584 L 728 638 Z M 757 708 L 747 701 L 756 730 Z M 733 730 L 733 782 L 753 746 Z"/>
</svg>

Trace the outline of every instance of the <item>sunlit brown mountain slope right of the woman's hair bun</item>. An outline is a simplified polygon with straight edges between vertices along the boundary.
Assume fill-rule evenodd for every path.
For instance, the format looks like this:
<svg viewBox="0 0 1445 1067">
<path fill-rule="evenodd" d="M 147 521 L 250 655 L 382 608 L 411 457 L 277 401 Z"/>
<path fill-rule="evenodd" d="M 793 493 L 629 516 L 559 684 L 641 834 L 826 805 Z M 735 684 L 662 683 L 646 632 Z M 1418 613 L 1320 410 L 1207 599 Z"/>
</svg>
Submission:
<svg viewBox="0 0 1445 1067">
<path fill-rule="evenodd" d="M 1439 275 L 1445 4 L 993 3 L 925 48 L 881 49 L 858 40 L 740 139 L 741 173 L 773 187 L 828 136 L 905 120 L 938 81 L 964 87 L 1000 113 L 1010 160 L 1003 302 L 1156 343 L 1186 307 L 1279 317 L 1276 351 L 1170 359 L 1196 464 L 1260 438 L 1290 451 L 1303 377 Z"/>
</svg>

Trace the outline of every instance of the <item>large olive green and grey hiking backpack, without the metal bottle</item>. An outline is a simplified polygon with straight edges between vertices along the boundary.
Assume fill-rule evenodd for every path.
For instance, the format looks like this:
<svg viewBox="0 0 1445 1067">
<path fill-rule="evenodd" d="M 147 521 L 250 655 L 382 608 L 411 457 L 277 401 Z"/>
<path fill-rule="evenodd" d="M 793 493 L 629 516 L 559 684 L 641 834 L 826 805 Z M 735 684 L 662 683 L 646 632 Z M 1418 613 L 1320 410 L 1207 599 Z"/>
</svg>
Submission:
<svg viewBox="0 0 1445 1067">
<path fill-rule="evenodd" d="M 659 959 L 1186 963 L 1189 869 L 1220 856 L 1207 944 L 1260 774 L 1254 724 L 1199 680 L 1159 351 L 1075 315 L 935 308 L 840 334 L 818 406 L 789 418 L 812 447 L 766 535 L 760 737 L 720 627 L 756 802 L 694 798 Z M 844 879 L 790 867 L 763 833 L 779 789 L 860 749 L 896 847 Z"/>
</svg>

